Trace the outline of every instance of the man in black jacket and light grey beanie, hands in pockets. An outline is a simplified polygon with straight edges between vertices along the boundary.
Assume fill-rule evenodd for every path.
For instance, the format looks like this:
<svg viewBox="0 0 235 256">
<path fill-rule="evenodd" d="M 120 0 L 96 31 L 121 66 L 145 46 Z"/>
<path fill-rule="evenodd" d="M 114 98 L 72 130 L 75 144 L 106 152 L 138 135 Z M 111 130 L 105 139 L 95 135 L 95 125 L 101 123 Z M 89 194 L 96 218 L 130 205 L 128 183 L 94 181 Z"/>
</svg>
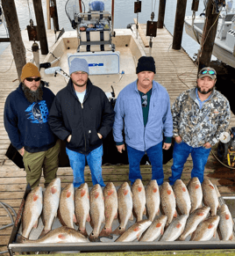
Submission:
<svg viewBox="0 0 235 256">
<path fill-rule="evenodd" d="M 48 122 L 61 140 L 74 172 L 74 186 L 84 180 L 87 159 L 93 185 L 105 186 L 102 178 L 103 143 L 112 128 L 114 111 L 105 93 L 89 80 L 89 65 L 75 58 L 69 68 L 68 85 L 53 101 Z"/>
</svg>

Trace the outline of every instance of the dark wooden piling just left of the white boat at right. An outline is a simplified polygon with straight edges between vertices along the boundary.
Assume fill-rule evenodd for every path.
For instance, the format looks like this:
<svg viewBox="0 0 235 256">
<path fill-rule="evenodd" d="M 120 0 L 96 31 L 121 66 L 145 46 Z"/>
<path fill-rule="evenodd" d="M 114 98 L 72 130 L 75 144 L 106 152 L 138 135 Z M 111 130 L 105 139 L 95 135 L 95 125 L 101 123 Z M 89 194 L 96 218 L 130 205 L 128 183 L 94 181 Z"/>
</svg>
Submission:
<svg viewBox="0 0 235 256">
<path fill-rule="evenodd" d="M 185 18 L 187 0 L 178 0 L 175 19 L 174 19 L 174 35 L 172 48 L 174 50 L 180 50 L 182 48 L 182 32 Z"/>
</svg>

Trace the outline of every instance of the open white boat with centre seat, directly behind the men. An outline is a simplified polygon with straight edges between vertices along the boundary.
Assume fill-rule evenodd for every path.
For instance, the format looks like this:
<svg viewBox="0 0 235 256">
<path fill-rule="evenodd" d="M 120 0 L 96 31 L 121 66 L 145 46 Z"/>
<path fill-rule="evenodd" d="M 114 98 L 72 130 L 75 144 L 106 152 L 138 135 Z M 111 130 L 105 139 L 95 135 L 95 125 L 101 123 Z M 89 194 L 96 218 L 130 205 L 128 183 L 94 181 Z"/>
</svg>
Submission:
<svg viewBox="0 0 235 256">
<path fill-rule="evenodd" d="M 78 0 L 68 0 L 66 11 L 75 31 L 65 32 L 57 40 L 44 60 L 51 67 L 41 68 L 41 76 L 56 93 L 68 83 L 69 63 L 74 58 L 85 58 L 91 82 L 105 92 L 112 91 L 112 86 L 117 97 L 125 85 L 136 80 L 138 59 L 146 55 L 136 34 L 127 28 L 114 31 L 109 11 L 91 9 L 81 13 Z"/>
</svg>

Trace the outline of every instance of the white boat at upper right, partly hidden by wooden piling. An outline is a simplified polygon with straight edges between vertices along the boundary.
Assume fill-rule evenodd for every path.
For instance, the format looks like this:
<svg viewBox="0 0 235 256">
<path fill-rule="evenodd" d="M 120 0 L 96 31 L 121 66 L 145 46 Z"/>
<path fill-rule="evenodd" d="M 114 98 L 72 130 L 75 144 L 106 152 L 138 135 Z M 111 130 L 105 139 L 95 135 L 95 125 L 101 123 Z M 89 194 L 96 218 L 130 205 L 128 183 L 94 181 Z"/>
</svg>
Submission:
<svg viewBox="0 0 235 256">
<path fill-rule="evenodd" d="M 232 0 L 219 14 L 212 55 L 216 56 L 219 61 L 235 68 L 235 9 L 231 7 Z M 186 16 L 184 20 L 186 33 L 200 44 L 204 22 L 204 13 L 195 18 Z"/>
</svg>

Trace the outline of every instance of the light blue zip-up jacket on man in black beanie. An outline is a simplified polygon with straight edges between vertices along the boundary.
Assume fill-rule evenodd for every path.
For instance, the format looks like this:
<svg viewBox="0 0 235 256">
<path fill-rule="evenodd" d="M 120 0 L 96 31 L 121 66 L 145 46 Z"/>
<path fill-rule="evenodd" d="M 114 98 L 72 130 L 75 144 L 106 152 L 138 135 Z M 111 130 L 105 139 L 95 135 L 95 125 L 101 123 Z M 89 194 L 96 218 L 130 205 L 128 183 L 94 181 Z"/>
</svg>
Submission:
<svg viewBox="0 0 235 256">
<path fill-rule="evenodd" d="M 140 151 L 146 151 L 162 142 L 163 134 L 166 137 L 173 135 L 169 95 L 167 90 L 155 81 L 153 81 L 146 128 L 137 80 L 120 91 L 114 111 L 113 136 L 116 143 L 124 141 L 123 128 L 125 130 L 125 143 Z"/>
</svg>

